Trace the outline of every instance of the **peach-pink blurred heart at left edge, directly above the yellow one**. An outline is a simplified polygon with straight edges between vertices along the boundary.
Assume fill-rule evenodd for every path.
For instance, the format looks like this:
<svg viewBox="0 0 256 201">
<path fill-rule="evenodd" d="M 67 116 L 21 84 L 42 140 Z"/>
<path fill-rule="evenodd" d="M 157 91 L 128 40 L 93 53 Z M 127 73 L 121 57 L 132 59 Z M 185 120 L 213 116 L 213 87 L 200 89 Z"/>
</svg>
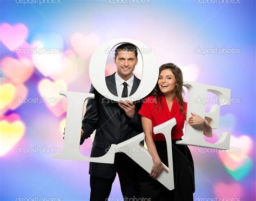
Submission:
<svg viewBox="0 0 256 201">
<path fill-rule="evenodd" d="M 33 74 L 33 63 L 29 59 L 5 57 L 2 62 L 3 74 L 15 84 L 23 84 Z"/>
</svg>

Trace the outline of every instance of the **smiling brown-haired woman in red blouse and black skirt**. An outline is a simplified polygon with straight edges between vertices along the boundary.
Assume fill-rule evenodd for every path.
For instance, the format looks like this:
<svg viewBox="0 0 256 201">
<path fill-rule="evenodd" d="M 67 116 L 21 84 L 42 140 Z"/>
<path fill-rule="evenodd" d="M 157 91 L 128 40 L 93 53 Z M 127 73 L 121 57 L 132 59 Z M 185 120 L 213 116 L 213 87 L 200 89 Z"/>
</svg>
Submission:
<svg viewBox="0 0 256 201">
<path fill-rule="evenodd" d="M 176 144 L 183 136 L 183 127 L 186 120 L 187 103 L 183 101 L 183 75 L 176 65 L 164 64 L 159 68 L 159 78 L 153 89 L 139 110 L 142 116 L 142 126 L 145 133 L 145 142 L 153 159 L 150 175 L 141 170 L 139 174 L 140 195 L 154 200 L 193 200 L 194 192 L 194 167 L 193 158 L 187 145 Z M 191 113 L 188 119 L 190 126 L 198 126 L 204 134 L 212 137 L 212 128 L 208 122 L 197 114 Z M 172 128 L 172 157 L 174 190 L 169 191 L 156 179 L 162 171 L 167 171 L 167 147 L 163 134 L 153 134 L 153 127 L 164 123 L 173 117 L 176 126 Z"/>
</svg>

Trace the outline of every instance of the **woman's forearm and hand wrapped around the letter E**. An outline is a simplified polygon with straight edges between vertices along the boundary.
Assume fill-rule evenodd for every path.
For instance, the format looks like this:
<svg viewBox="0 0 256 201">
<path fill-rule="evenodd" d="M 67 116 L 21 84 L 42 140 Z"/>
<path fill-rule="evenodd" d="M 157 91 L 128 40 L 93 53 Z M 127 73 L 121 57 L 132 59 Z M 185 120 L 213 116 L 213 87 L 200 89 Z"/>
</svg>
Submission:
<svg viewBox="0 0 256 201">
<path fill-rule="evenodd" d="M 210 126 L 209 122 L 197 114 L 191 114 L 192 116 L 188 119 L 190 126 L 201 125 L 204 135 L 207 137 L 212 137 L 212 127 Z"/>
</svg>

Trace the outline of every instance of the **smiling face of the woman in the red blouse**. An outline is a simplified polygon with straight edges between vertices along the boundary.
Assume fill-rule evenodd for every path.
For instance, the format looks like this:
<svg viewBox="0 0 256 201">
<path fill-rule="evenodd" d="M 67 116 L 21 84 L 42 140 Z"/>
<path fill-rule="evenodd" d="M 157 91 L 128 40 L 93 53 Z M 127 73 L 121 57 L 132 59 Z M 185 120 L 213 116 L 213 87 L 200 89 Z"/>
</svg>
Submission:
<svg viewBox="0 0 256 201">
<path fill-rule="evenodd" d="M 161 71 L 158 77 L 158 86 L 163 94 L 171 94 L 176 86 L 176 78 L 170 69 Z"/>
</svg>

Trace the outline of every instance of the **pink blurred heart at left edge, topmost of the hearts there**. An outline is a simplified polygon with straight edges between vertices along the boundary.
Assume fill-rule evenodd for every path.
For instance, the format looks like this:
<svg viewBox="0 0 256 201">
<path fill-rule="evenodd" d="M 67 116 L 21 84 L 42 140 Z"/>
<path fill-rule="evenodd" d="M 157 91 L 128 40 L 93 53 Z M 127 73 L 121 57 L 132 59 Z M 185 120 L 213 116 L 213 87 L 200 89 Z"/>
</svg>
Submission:
<svg viewBox="0 0 256 201">
<path fill-rule="evenodd" d="M 10 51 L 14 51 L 19 45 L 22 45 L 27 37 L 28 28 L 22 23 L 14 26 L 8 23 L 0 25 L 0 40 Z"/>
</svg>

